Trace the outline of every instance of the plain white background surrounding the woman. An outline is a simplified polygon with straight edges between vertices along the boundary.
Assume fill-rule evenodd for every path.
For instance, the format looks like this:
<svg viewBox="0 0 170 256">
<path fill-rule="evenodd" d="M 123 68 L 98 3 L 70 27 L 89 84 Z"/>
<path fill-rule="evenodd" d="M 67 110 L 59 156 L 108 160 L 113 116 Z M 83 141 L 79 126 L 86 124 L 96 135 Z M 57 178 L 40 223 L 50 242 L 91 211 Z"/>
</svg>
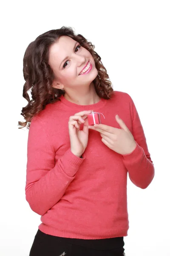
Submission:
<svg viewBox="0 0 170 256">
<path fill-rule="evenodd" d="M 155 167 L 147 189 L 128 178 L 126 256 L 170 256 L 170 1 L 6 1 L 0 23 L 0 255 L 28 256 L 40 224 L 25 199 L 28 130 L 17 126 L 23 55 L 38 35 L 71 26 L 95 44 L 113 89 L 132 97 Z"/>
</svg>

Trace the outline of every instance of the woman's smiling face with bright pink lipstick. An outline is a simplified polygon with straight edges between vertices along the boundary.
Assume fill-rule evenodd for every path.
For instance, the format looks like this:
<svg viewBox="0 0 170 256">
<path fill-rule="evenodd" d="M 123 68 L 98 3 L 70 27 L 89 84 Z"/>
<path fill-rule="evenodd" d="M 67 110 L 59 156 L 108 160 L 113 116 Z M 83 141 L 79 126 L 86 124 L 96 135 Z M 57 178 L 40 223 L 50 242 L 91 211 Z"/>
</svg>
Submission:
<svg viewBox="0 0 170 256">
<path fill-rule="evenodd" d="M 68 36 L 61 36 L 51 45 L 48 64 L 56 77 L 53 87 L 59 89 L 89 86 L 98 74 L 91 53 Z M 85 67 L 87 73 L 82 74 Z"/>
</svg>

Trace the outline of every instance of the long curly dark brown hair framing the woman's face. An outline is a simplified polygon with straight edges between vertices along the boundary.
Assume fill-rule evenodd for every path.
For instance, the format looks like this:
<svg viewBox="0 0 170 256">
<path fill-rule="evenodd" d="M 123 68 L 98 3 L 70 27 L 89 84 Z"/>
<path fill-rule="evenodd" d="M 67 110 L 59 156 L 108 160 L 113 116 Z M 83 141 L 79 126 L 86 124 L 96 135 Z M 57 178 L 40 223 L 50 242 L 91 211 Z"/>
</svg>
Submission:
<svg viewBox="0 0 170 256">
<path fill-rule="evenodd" d="M 71 37 L 91 53 L 98 71 L 93 81 L 96 93 L 100 98 L 111 98 L 113 93 L 111 81 L 100 56 L 94 51 L 94 44 L 88 42 L 82 35 L 76 35 L 71 27 L 62 26 L 60 29 L 53 29 L 39 35 L 26 48 L 23 58 L 23 76 L 26 81 L 23 86 L 23 97 L 28 104 L 22 108 L 21 112 L 26 122 L 19 121 L 19 128 L 26 126 L 29 129 L 33 116 L 44 110 L 47 104 L 60 101 L 59 97 L 65 94 L 65 90 L 52 87 L 54 73 L 48 64 L 49 47 L 62 35 Z M 28 91 L 31 92 L 31 100 Z"/>
</svg>

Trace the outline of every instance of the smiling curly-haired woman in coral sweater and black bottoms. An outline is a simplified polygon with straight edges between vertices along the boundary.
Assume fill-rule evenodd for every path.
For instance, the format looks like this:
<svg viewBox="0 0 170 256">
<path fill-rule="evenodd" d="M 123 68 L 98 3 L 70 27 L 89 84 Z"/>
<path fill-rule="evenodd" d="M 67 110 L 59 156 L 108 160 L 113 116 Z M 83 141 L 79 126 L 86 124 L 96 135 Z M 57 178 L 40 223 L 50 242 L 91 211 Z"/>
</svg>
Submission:
<svg viewBox="0 0 170 256">
<path fill-rule="evenodd" d="M 154 177 L 132 98 L 113 91 L 94 45 L 70 27 L 31 42 L 23 74 L 26 200 L 41 215 L 30 256 L 125 255 L 127 173 L 142 189 Z M 92 111 L 101 124 L 89 125 Z"/>
</svg>

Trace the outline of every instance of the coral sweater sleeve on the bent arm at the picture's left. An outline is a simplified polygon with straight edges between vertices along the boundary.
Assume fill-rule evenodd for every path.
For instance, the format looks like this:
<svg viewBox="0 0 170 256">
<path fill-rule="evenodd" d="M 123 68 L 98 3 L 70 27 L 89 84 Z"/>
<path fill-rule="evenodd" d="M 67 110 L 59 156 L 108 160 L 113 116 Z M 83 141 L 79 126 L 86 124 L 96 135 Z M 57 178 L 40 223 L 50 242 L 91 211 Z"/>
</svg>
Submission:
<svg viewBox="0 0 170 256">
<path fill-rule="evenodd" d="M 64 195 L 85 159 L 75 156 L 70 148 L 55 163 L 55 150 L 38 117 L 33 117 L 27 145 L 26 201 L 31 209 L 44 215 Z"/>
</svg>

